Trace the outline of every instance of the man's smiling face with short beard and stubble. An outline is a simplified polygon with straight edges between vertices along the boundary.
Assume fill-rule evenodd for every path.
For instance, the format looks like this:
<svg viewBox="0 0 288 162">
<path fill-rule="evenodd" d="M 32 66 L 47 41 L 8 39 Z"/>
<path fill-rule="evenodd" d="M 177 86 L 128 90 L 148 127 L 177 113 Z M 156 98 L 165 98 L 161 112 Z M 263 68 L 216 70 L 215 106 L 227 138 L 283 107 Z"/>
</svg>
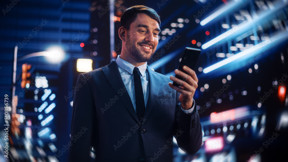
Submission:
<svg viewBox="0 0 288 162">
<path fill-rule="evenodd" d="M 130 24 L 127 32 L 125 47 L 137 62 L 150 60 L 158 45 L 159 24 L 148 15 L 139 13 Z"/>
</svg>

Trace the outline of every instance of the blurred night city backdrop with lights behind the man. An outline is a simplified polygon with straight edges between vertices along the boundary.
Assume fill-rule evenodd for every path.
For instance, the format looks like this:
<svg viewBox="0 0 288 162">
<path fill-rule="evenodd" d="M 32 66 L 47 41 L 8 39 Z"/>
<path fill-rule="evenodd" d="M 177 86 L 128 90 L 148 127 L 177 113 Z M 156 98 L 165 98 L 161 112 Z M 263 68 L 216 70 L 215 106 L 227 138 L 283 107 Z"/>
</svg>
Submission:
<svg viewBox="0 0 288 162">
<path fill-rule="evenodd" d="M 202 50 L 194 97 L 203 143 L 198 153 L 186 155 L 174 140 L 175 162 L 287 161 L 281 160 L 288 150 L 287 4 L 1 1 L 0 161 L 67 161 L 77 77 L 120 54 L 120 17 L 133 5 L 161 17 L 159 44 L 148 62 L 156 72 L 174 75 L 185 47 Z"/>
</svg>

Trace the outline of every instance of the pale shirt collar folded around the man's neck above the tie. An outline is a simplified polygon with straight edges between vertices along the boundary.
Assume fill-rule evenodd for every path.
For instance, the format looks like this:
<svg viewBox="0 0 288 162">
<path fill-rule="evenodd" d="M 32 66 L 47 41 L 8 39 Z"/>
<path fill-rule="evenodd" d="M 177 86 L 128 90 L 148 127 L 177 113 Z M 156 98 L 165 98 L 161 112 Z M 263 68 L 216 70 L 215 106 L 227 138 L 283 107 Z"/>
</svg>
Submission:
<svg viewBox="0 0 288 162">
<path fill-rule="evenodd" d="M 126 70 L 131 75 L 133 74 L 133 70 L 135 66 L 123 60 L 122 58 L 120 58 L 120 55 L 118 55 L 116 59 L 116 64 L 120 66 L 122 69 Z M 145 64 L 143 65 L 137 66 L 137 68 L 139 69 L 141 75 L 143 76 L 147 69 L 147 62 L 145 62 Z"/>
</svg>

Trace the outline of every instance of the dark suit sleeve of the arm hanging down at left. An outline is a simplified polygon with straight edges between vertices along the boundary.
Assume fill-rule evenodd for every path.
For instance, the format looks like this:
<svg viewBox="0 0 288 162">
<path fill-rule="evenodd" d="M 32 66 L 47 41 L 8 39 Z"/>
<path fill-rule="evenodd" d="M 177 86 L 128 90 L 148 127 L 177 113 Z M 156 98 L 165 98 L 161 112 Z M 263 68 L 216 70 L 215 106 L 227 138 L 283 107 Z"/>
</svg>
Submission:
<svg viewBox="0 0 288 162">
<path fill-rule="evenodd" d="M 95 118 L 88 82 L 84 75 L 80 74 L 73 98 L 69 161 L 91 161 L 90 150 L 93 143 L 92 137 L 95 137 L 93 129 Z"/>
</svg>

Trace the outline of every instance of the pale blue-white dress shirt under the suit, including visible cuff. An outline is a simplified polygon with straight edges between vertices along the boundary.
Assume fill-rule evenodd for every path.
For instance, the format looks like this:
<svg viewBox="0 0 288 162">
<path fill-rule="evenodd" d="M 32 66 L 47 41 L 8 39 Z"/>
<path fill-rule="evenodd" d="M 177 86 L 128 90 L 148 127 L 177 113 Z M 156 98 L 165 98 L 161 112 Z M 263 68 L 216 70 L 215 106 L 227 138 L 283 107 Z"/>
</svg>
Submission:
<svg viewBox="0 0 288 162">
<path fill-rule="evenodd" d="M 133 77 L 133 70 L 134 70 L 134 65 L 130 64 L 129 62 L 123 60 L 120 58 L 120 55 L 118 55 L 116 59 L 116 64 L 118 66 L 118 70 L 120 72 L 121 78 L 123 80 L 123 83 L 127 89 L 127 92 L 131 98 L 132 104 L 134 106 L 134 110 L 136 111 L 136 99 L 135 99 L 135 89 L 134 89 L 134 77 Z M 147 100 L 149 96 L 149 78 L 146 73 L 147 69 L 147 62 L 143 65 L 137 66 L 137 68 L 140 71 L 141 74 L 141 82 L 142 82 L 142 88 L 143 88 L 143 95 L 144 95 L 144 102 L 145 102 L 145 108 L 147 105 Z M 193 101 L 193 106 L 192 108 L 188 110 L 183 110 L 182 106 L 181 109 L 184 111 L 186 114 L 191 114 L 194 110 L 195 106 L 195 101 Z"/>
</svg>

